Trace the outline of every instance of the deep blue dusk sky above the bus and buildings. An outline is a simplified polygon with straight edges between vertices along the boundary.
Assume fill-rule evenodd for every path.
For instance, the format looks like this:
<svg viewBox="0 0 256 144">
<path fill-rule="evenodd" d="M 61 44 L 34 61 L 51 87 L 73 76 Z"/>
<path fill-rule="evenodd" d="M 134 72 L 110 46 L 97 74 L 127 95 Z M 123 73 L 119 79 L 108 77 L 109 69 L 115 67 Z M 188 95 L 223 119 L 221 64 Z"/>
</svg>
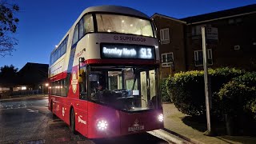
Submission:
<svg viewBox="0 0 256 144">
<path fill-rule="evenodd" d="M 12 56 L 0 57 L 0 66 L 19 69 L 26 62 L 49 63 L 50 53 L 74 21 L 89 6 L 128 6 L 151 16 L 165 14 L 186 18 L 256 3 L 255 0 L 10 0 L 18 3 L 20 22 Z"/>
</svg>

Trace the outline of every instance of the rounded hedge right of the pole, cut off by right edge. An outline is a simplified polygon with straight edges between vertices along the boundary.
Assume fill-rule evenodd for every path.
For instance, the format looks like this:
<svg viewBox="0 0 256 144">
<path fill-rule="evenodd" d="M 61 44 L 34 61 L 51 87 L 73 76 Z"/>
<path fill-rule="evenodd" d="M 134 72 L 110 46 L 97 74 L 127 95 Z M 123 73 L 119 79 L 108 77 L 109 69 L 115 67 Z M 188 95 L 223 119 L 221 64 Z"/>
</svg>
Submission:
<svg viewBox="0 0 256 144">
<path fill-rule="evenodd" d="M 256 114 L 256 72 L 248 72 L 226 83 L 218 92 L 225 114 Z M 256 118 L 256 117 L 254 117 Z"/>
</svg>

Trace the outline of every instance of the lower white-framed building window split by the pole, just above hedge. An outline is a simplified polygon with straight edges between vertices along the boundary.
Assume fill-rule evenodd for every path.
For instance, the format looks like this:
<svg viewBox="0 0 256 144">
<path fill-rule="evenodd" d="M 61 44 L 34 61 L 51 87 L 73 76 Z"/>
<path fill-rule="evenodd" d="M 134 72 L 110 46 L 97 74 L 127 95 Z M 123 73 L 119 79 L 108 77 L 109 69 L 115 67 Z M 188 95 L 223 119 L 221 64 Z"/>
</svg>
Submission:
<svg viewBox="0 0 256 144">
<path fill-rule="evenodd" d="M 208 49 L 207 58 L 208 58 L 208 61 L 207 61 L 208 65 L 213 65 L 213 55 L 212 55 L 211 49 Z M 202 50 L 194 51 L 194 64 L 195 66 L 202 66 L 203 64 Z"/>
</svg>

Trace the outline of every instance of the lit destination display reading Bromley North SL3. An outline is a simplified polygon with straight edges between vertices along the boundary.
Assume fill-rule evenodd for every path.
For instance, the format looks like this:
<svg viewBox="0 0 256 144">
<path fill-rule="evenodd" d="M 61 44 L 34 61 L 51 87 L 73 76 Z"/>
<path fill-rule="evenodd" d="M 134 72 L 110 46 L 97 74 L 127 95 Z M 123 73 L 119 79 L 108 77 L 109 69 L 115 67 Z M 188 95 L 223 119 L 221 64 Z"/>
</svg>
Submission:
<svg viewBox="0 0 256 144">
<path fill-rule="evenodd" d="M 154 59 L 154 46 L 101 44 L 102 58 Z"/>
</svg>

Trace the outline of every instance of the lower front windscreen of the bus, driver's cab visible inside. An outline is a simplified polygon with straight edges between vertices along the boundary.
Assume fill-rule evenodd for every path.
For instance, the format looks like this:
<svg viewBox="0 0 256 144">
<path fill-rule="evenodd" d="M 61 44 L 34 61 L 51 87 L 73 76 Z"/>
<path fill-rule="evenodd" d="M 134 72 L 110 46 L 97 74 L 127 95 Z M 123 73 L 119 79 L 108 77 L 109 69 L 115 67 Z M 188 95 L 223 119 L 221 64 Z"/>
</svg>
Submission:
<svg viewBox="0 0 256 144">
<path fill-rule="evenodd" d="M 90 100 L 126 111 L 155 109 L 156 70 L 154 67 L 91 67 Z"/>
</svg>

